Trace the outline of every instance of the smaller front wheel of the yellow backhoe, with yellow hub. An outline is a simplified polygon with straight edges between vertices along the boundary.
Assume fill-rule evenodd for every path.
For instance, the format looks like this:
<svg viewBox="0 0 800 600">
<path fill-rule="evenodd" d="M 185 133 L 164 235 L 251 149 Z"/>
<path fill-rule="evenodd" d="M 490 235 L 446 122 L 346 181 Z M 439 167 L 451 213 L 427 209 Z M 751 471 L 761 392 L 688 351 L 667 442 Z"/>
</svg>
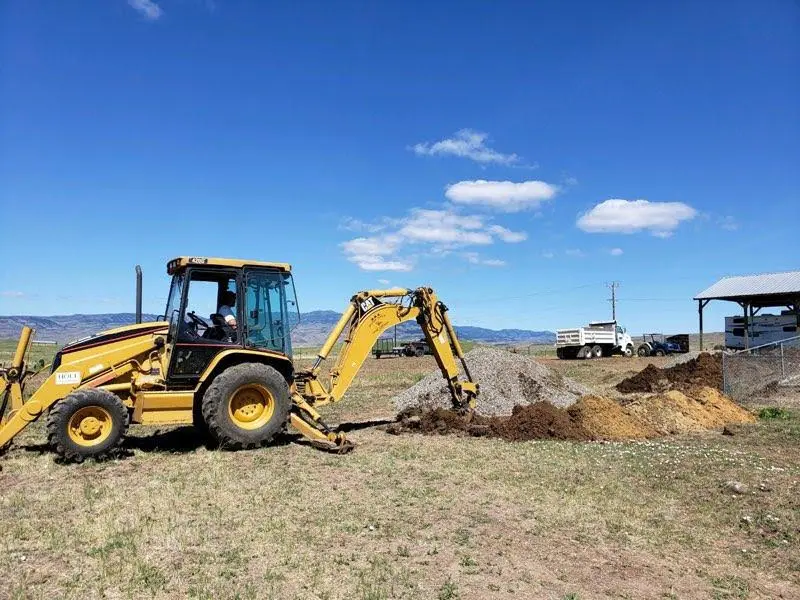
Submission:
<svg viewBox="0 0 800 600">
<path fill-rule="evenodd" d="M 75 390 L 47 416 L 47 441 L 66 461 L 107 458 L 122 443 L 128 409 L 111 392 Z"/>
</svg>

